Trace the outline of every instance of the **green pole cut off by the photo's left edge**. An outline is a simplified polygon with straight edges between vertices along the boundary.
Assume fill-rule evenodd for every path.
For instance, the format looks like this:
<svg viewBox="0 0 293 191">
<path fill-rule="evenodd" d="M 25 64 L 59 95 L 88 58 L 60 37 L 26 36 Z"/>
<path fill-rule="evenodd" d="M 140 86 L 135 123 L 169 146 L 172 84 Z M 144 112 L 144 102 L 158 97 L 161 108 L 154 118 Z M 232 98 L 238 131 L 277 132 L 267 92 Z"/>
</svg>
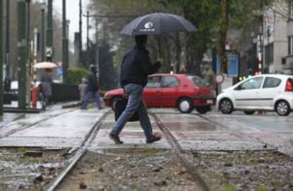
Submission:
<svg viewBox="0 0 293 191">
<path fill-rule="evenodd" d="M 3 17 L 3 1 L 0 0 L 0 18 Z M 3 19 L 0 19 L 0 45 L 2 45 L 2 24 L 3 24 Z M 2 46 L 0 46 L 0 116 L 3 115 L 3 103 L 4 103 L 4 98 L 3 98 L 3 57 L 2 57 Z"/>
</svg>

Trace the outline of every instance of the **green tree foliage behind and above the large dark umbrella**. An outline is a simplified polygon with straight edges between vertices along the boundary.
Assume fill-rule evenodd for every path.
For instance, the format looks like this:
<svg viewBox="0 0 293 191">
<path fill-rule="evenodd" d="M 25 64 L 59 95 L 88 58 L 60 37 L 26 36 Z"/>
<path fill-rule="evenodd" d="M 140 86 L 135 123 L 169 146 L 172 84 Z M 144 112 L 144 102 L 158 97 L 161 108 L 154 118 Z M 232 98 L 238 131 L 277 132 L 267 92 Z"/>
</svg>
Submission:
<svg viewBox="0 0 293 191">
<path fill-rule="evenodd" d="M 180 63 L 185 62 L 187 73 L 200 75 L 200 64 L 208 49 L 217 47 L 217 52 L 223 59 L 226 72 L 225 44 L 226 39 L 230 38 L 230 31 L 246 31 L 252 21 L 259 21 L 260 12 L 265 5 L 272 0 L 113 0 L 113 1 L 91 1 L 91 7 L 98 13 L 108 15 L 133 15 L 132 17 L 109 18 L 105 23 L 105 30 L 108 36 L 113 37 L 110 45 L 118 46 L 118 50 L 125 50 L 129 47 L 129 38 L 120 37 L 119 31 L 135 15 L 152 13 L 156 11 L 176 13 L 187 18 L 197 27 L 196 33 L 169 34 L 163 37 L 163 57 L 167 64 L 175 63 L 175 71 L 180 68 Z M 277 0 L 282 1 L 282 0 Z M 284 0 L 287 1 L 287 0 Z M 94 11 L 94 10 L 93 10 Z M 242 32 L 241 32 L 242 33 Z M 250 38 L 250 37 L 249 37 Z M 166 40 L 168 39 L 168 40 Z M 235 45 L 241 48 L 241 43 L 247 42 L 247 38 L 239 38 Z M 151 55 L 156 57 L 156 41 L 151 39 Z M 181 57 L 184 54 L 185 57 Z M 165 71 L 168 71 L 167 66 Z"/>
</svg>

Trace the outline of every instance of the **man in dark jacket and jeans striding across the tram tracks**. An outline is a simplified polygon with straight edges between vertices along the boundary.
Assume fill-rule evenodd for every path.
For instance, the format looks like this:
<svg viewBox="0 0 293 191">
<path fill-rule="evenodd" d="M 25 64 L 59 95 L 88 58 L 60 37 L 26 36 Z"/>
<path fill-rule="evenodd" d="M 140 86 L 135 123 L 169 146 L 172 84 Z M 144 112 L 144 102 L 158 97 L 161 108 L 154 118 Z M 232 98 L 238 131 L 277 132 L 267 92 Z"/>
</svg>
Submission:
<svg viewBox="0 0 293 191">
<path fill-rule="evenodd" d="M 144 86 L 147 83 L 147 76 L 154 74 L 161 67 L 161 59 L 151 64 L 149 52 L 146 50 L 147 35 L 135 36 L 136 46 L 127 52 L 122 60 L 120 69 L 120 84 L 128 96 L 127 106 L 118 118 L 115 126 L 109 134 L 115 144 L 122 144 L 119 134 L 126 122 L 138 112 L 139 122 L 144 130 L 146 143 L 159 141 L 161 137 L 153 134 L 151 122 L 147 114 L 146 106 L 142 100 Z"/>
</svg>

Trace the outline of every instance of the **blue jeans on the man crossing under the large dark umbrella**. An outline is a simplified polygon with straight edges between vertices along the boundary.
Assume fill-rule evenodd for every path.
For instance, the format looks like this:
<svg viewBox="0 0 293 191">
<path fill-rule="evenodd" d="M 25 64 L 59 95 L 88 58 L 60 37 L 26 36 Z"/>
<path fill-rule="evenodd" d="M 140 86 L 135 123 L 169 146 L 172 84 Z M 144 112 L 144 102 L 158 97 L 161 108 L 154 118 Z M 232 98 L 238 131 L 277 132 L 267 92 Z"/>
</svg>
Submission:
<svg viewBox="0 0 293 191">
<path fill-rule="evenodd" d="M 147 115 L 146 106 L 142 101 L 142 92 L 144 91 L 144 87 L 139 84 L 129 83 L 124 87 L 124 91 L 128 95 L 128 102 L 125 111 L 122 112 L 118 118 L 110 134 L 120 134 L 126 122 L 130 119 L 130 117 L 132 117 L 134 112 L 137 111 L 139 115 L 139 122 L 144 130 L 146 141 L 150 140 L 153 130 L 151 128 L 149 116 Z"/>
</svg>

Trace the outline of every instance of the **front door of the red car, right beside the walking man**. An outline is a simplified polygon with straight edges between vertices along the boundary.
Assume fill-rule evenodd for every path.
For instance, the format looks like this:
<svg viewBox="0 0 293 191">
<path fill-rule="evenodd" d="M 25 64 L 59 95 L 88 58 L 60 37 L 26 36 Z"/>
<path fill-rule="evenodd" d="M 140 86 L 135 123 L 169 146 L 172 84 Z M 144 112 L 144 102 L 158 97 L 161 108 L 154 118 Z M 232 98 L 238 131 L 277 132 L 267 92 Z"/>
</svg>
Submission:
<svg viewBox="0 0 293 191">
<path fill-rule="evenodd" d="M 149 76 L 143 96 L 146 106 L 161 107 L 161 76 Z"/>
</svg>

